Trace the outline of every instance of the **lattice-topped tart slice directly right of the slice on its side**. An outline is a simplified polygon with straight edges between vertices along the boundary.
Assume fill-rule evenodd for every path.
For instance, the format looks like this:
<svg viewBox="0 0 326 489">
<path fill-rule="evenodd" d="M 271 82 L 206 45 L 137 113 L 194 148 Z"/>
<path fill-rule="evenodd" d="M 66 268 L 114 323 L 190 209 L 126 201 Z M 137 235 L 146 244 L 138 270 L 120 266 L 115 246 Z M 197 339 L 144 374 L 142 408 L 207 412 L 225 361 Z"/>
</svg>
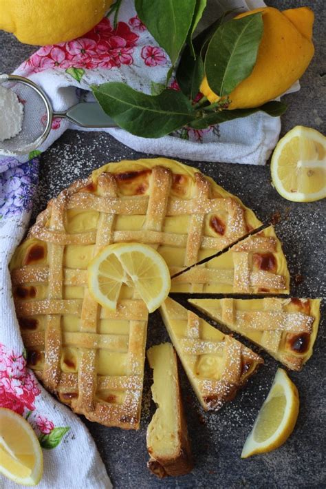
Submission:
<svg viewBox="0 0 326 489">
<path fill-rule="evenodd" d="M 257 366 L 259 355 L 167 298 L 160 308 L 173 346 L 205 410 L 218 410 Z"/>
</svg>

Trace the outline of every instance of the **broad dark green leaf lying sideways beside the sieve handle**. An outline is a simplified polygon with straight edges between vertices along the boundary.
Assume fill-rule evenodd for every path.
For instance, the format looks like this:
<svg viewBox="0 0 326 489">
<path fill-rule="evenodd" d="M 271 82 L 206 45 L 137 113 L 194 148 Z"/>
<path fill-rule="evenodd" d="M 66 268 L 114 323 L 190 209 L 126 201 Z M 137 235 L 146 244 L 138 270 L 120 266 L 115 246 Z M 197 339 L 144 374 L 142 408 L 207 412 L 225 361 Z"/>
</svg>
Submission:
<svg viewBox="0 0 326 489">
<path fill-rule="evenodd" d="M 160 138 L 195 118 L 188 98 L 175 90 L 151 96 L 118 82 L 92 85 L 91 89 L 104 112 L 135 136 Z"/>
</svg>

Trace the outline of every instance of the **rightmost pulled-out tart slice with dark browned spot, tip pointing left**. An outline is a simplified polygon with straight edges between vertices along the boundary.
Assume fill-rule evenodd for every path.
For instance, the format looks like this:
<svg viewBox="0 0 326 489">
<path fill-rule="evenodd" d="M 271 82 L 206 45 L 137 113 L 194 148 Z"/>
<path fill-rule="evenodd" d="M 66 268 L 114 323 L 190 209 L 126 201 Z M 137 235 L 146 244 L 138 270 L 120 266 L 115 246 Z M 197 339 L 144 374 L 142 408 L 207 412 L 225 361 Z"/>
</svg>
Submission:
<svg viewBox="0 0 326 489">
<path fill-rule="evenodd" d="M 312 356 L 320 320 L 320 299 L 189 299 L 292 370 Z"/>
</svg>

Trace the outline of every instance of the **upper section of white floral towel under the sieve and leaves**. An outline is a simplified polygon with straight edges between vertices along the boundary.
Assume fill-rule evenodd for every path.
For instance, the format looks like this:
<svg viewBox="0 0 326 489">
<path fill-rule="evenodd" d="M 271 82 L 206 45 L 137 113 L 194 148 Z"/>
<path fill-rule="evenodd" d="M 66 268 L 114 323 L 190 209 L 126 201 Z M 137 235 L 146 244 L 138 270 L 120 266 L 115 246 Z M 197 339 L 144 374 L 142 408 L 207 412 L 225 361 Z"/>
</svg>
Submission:
<svg viewBox="0 0 326 489">
<path fill-rule="evenodd" d="M 133 0 L 122 2 L 116 30 L 111 19 L 105 18 L 83 38 L 39 49 L 15 74 L 26 76 L 43 88 L 55 111 L 67 110 L 80 100 L 89 100 L 89 85 L 105 81 L 122 81 L 136 90 L 151 93 L 152 84 L 163 83 L 171 65 L 166 53 L 138 19 L 133 3 Z M 237 12 L 241 12 L 264 5 L 260 0 L 209 0 L 206 18 L 211 21 L 225 10 L 237 8 Z M 177 90 L 175 81 L 171 88 Z M 298 90 L 298 84 L 292 90 Z M 50 136 L 39 151 L 43 152 L 68 127 L 80 129 L 56 118 Z M 264 165 L 276 145 L 280 129 L 279 117 L 258 112 L 203 130 L 184 128 L 173 136 L 158 139 L 133 136 L 120 128 L 104 130 L 140 152 Z M 29 155 L 25 155 L 17 160 L 23 162 L 28 158 Z"/>
</svg>

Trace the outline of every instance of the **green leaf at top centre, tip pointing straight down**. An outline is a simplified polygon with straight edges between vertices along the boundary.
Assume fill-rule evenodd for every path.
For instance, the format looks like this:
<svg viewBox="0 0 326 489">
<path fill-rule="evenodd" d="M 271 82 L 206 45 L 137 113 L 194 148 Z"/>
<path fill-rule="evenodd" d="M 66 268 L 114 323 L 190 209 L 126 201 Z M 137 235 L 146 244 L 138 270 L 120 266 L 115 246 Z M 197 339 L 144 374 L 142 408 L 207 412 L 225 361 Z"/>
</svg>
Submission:
<svg viewBox="0 0 326 489">
<path fill-rule="evenodd" d="M 138 17 L 173 65 L 191 28 L 195 6 L 196 0 L 135 0 Z"/>
</svg>

